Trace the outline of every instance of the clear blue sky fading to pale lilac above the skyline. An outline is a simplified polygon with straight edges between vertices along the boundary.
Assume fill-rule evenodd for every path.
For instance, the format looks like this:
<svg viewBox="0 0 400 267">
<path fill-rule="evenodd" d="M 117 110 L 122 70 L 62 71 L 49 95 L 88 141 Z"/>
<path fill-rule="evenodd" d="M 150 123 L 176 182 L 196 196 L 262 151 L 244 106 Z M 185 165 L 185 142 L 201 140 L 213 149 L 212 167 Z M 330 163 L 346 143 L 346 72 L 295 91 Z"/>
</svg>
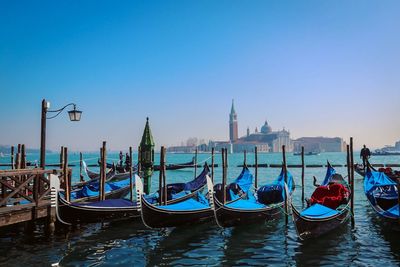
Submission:
<svg viewBox="0 0 400 267">
<path fill-rule="evenodd" d="M 293 138 L 400 139 L 400 1 L 0 2 L 0 144 L 157 146 L 285 127 Z"/>
</svg>

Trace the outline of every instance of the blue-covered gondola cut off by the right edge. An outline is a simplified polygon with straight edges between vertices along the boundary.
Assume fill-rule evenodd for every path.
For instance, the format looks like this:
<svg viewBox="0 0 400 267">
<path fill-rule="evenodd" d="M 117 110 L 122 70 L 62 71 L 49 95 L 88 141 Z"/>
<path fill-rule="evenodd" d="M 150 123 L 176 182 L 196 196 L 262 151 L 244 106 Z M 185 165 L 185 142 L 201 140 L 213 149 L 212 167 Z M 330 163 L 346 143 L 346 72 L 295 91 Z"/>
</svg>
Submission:
<svg viewBox="0 0 400 267">
<path fill-rule="evenodd" d="M 364 193 L 372 208 L 388 221 L 399 220 L 399 204 L 396 183 L 385 173 L 367 169 Z"/>
</svg>

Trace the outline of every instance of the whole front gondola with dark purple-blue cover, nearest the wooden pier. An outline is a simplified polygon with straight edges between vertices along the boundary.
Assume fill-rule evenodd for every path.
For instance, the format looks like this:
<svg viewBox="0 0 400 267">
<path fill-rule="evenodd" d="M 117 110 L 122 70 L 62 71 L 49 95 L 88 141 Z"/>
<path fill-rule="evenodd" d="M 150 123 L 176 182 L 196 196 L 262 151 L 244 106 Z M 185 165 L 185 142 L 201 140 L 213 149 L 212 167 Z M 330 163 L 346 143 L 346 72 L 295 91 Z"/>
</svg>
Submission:
<svg viewBox="0 0 400 267">
<path fill-rule="evenodd" d="M 136 202 L 127 199 L 106 199 L 91 202 L 68 202 L 60 192 L 57 176 L 50 177 L 52 206 L 56 215 L 64 224 L 92 223 L 127 218 L 139 218 Z"/>
</svg>

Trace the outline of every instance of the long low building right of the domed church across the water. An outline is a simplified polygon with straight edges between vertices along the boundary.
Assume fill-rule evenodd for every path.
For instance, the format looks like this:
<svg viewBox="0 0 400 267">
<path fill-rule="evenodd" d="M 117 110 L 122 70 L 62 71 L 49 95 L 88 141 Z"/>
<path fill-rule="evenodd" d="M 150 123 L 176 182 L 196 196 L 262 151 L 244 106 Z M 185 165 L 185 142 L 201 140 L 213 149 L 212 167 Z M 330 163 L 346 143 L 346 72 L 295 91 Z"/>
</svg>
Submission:
<svg viewBox="0 0 400 267">
<path fill-rule="evenodd" d="M 300 152 L 304 146 L 304 151 L 307 152 L 343 152 L 346 148 L 346 143 L 340 137 L 301 137 L 293 140 L 295 152 Z"/>
</svg>

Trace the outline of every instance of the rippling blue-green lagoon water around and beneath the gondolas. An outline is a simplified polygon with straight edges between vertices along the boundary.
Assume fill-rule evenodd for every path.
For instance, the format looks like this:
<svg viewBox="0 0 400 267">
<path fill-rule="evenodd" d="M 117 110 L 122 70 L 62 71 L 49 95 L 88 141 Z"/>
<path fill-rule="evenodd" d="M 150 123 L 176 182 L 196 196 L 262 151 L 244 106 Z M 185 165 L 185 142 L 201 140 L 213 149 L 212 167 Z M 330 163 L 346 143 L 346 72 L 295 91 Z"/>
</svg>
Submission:
<svg viewBox="0 0 400 267">
<path fill-rule="evenodd" d="M 156 155 L 157 157 L 158 155 Z M 97 161 L 97 154 L 84 154 L 89 163 Z M 108 155 L 116 159 L 117 154 Z M 168 163 L 190 161 L 190 154 L 168 154 Z M 358 155 L 355 155 L 357 161 Z M 34 160 L 37 155 L 28 155 Z M 209 158 L 199 154 L 199 162 Z M 254 162 L 248 154 L 248 163 Z M 69 162 L 78 163 L 79 155 L 70 154 Z M 344 153 L 323 153 L 306 156 L 306 164 L 324 164 L 329 159 L 334 164 L 345 164 Z M 5 162 L 8 159 L 1 158 Z M 158 159 L 156 159 L 158 160 Z M 48 163 L 56 163 L 57 154 L 49 154 Z M 210 162 L 210 161 L 209 161 Z M 241 171 L 235 167 L 243 162 L 242 154 L 229 155 L 229 179 Z M 282 162 L 281 154 L 259 154 L 259 163 Z M 300 157 L 287 155 L 288 164 L 300 164 Z M 374 157 L 372 163 L 399 163 L 400 156 Z M 220 164 L 220 155 L 216 155 Z M 78 164 L 79 165 L 79 164 Z M 79 179 L 79 166 L 74 167 L 74 181 Z M 96 168 L 93 168 L 94 170 Z M 336 168 L 346 176 L 346 168 Z M 198 173 L 201 170 L 198 170 Z M 259 184 L 272 181 L 278 168 L 260 168 Z M 294 203 L 301 203 L 301 169 L 290 169 L 297 184 Z M 312 193 L 312 176 L 321 182 L 325 168 L 306 169 L 305 195 Z M 168 182 L 190 180 L 193 170 L 167 172 Z M 158 182 L 152 180 L 155 189 Z M 215 172 L 221 179 L 221 168 Z M 43 266 L 59 263 L 60 266 L 161 266 L 161 265 L 276 265 L 276 266 L 399 266 L 400 233 L 386 225 L 369 207 L 364 194 L 362 177 L 355 175 L 355 221 L 318 240 L 302 242 L 297 238 L 293 223 L 285 226 L 283 218 L 258 225 L 245 225 L 221 229 L 215 223 L 189 225 L 162 230 L 146 229 L 140 221 L 123 221 L 107 224 L 89 224 L 79 229 L 60 229 L 54 236 L 46 236 L 42 229 L 33 234 L 23 234 L 16 229 L 0 232 L 0 265 Z"/>
</svg>

